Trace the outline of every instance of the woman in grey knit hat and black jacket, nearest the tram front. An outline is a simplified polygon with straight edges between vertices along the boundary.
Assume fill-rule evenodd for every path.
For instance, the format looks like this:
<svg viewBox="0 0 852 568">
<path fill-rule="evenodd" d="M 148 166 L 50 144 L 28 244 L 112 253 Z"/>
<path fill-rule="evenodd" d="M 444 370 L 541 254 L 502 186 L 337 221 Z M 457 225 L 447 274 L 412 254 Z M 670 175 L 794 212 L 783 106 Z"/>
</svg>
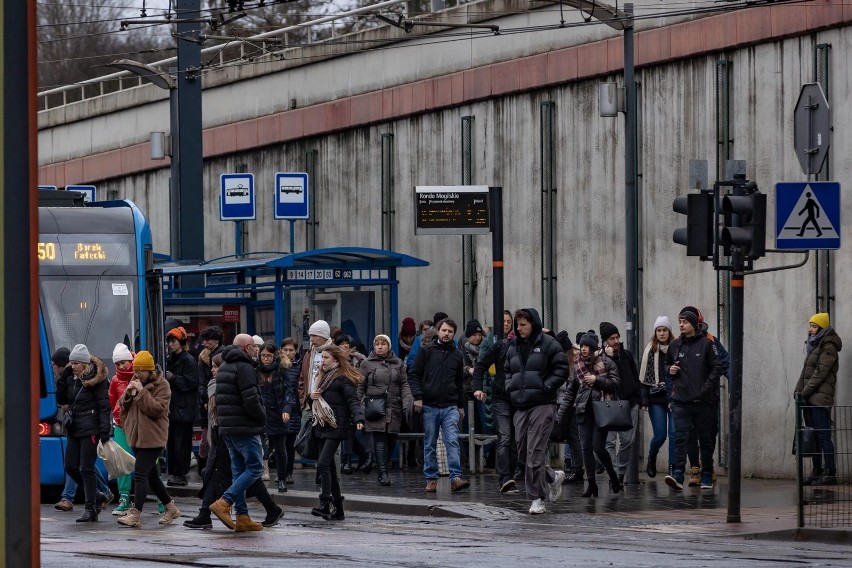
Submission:
<svg viewBox="0 0 852 568">
<path fill-rule="evenodd" d="M 107 442 L 111 429 L 107 369 L 82 343 L 68 356 L 68 366 L 56 381 L 56 400 L 68 405 L 65 417 L 65 472 L 83 486 L 86 510 L 78 523 L 98 520 L 106 496 L 97 491 L 95 458 L 98 441 Z"/>
</svg>

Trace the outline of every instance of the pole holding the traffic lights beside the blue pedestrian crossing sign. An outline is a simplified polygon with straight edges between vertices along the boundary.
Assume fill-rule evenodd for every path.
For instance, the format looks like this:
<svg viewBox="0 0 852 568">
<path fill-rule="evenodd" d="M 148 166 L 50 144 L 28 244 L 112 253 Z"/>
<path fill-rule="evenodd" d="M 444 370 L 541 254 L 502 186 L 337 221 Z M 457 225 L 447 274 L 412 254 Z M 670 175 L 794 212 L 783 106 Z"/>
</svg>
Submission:
<svg viewBox="0 0 852 568">
<path fill-rule="evenodd" d="M 744 178 L 734 183 L 734 195 L 744 195 Z M 740 226 L 739 215 L 734 215 L 731 225 Z M 739 523 L 740 477 L 742 470 L 742 398 L 743 398 L 743 302 L 745 298 L 744 260 L 734 248 L 731 255 L 734 268 L 731 274 L 731 376 L 728 377 L 728 518 L 729 523 Z"/>
</svg>

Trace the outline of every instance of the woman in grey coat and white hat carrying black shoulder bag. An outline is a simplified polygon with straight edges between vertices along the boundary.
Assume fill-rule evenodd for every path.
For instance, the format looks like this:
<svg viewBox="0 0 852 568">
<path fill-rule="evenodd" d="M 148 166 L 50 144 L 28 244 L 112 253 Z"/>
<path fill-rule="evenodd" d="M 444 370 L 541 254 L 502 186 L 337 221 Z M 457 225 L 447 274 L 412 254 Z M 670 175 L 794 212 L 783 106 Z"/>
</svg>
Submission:
<svg viewBox="0 0 852 568">
<path fill-rule="evenodd" d="M 373 434 L 373 452 L 379 468 L 379 485 L 390 485 L 388 478 L 388 454 L 396 446 L 396 437 L 402 426 L 402 413 L 414 404 L 408 387 L 405 363 L 390 347 L 390 337 L 377 335 L 373 340 L 373 351 L 361 363 L 364 380 L 358 385 L 358 399 L 367 405 L 367 399 L 384 398 L 385 414 L 368 416 L 364 429 Z"/>
</svg>

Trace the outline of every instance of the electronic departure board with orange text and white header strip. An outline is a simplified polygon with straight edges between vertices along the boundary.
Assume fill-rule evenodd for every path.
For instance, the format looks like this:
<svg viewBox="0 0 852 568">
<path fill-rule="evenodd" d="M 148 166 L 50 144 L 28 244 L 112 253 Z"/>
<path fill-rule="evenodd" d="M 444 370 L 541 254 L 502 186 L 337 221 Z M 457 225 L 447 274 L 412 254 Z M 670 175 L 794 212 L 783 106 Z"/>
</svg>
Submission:
<svg viewBox="0 0 852 568">
<path fill-rule="evenodd" d="M 415 233 L 477 235 L 491 230 L 487 185 L 420 185 L 415 188 Z"/>
</svg>

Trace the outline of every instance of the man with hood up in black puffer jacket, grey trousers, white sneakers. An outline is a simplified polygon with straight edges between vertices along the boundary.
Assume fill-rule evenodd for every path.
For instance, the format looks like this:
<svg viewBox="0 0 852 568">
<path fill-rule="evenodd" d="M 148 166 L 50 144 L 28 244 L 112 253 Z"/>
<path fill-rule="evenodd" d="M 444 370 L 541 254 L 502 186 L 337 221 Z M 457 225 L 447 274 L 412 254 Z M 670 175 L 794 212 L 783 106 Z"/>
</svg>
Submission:
<svg viewBox="0 0 852 568">
<path fill-rule="evenodd" d="M 506 355 L 506 394 L 515 408 L 518 458 L 526 463 L 524 483 L 530 514 L 546 512 L 544 498 L 556 501 L 565 473 L 547 467 L 556 395 L 568 378 L 568 359 L 555 338 L 542 332 L 533 308 L 515 312 L 515 340 Z"/>
</svg>

